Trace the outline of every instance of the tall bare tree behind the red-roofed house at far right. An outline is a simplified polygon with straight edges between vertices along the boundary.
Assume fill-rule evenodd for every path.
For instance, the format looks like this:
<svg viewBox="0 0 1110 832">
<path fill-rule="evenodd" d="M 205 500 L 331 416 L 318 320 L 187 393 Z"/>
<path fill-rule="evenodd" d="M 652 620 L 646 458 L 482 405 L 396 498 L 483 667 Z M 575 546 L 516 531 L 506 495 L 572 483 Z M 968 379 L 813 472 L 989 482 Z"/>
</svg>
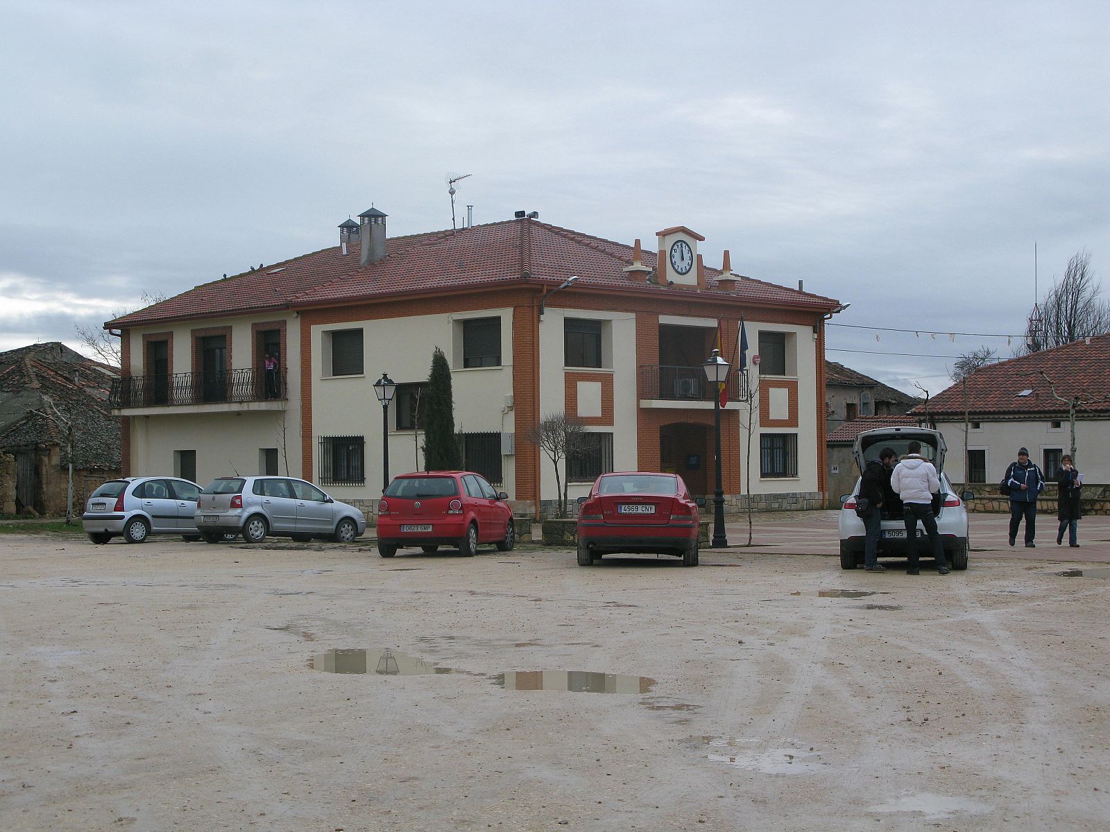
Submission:
<svg viewBox="0 0 1110 832">
<path fill-rule="evenodd" d="M 1062 346 L 1110 331 L 1110 304 L 1099 300 L 1101 287 L 1086 248 L 1068 261 L 1063 277 L 1052 284 L 1040 305 L 1040 321 L 1030 315 L 1025 352 Z"/>
</svg>

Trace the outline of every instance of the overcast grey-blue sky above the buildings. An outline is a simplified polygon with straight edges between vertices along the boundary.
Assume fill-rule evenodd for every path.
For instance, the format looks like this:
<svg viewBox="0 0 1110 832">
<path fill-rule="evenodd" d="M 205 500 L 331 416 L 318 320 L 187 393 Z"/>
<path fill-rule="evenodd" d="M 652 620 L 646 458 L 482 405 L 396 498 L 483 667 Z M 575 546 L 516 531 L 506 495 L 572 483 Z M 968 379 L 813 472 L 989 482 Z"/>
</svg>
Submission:
<svg viewBox="0 0 1110 832">
<path fill-rule="evenodd" d="M 1104 0 L 6 0 L 0 349 L 371 203 L 450 227 L 453 172 L 475 223 L 687 225 L 708 265 L 850 302 L 830 359 L 935 394 L 1011 354 L 946 333 L 1023 332 L 1035 243 L 1041 295 L 1080 248 L 1110 275 L 1108 35 Z"/>
</svg>

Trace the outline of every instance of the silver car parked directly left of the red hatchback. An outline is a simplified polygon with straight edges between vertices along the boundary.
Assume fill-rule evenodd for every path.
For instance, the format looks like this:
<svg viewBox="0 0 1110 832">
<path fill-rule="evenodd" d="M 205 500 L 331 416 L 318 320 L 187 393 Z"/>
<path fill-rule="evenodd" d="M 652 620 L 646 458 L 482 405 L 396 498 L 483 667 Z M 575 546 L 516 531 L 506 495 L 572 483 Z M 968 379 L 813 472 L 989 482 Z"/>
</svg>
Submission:
<svg viewBox="0 0 1110 832">
<path fill-rule="evenodd" d="M 351 542 L 366 530 L 366 517 L 312 483 L 292 477 L 219 477 L 201 491 L 194 528 L 210 544 L 242 532 L 252 544 L 266 535 Z"/>
</svg>

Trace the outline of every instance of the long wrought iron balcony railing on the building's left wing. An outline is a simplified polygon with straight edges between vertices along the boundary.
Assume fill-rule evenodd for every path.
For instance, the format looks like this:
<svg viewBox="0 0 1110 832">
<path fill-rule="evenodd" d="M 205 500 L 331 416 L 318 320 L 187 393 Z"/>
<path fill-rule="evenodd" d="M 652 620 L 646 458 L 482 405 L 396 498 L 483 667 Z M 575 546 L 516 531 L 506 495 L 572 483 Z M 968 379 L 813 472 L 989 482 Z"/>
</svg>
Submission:
<svg viewBox="0 0 1110 832">
<path fill-rule="evenodd" d="M 112 382 L 112 407 L 265 402 L 285 398 L 280 369 L 232 369 L 226 373 L 174 373 L 122 376 Z"/>
</svg>

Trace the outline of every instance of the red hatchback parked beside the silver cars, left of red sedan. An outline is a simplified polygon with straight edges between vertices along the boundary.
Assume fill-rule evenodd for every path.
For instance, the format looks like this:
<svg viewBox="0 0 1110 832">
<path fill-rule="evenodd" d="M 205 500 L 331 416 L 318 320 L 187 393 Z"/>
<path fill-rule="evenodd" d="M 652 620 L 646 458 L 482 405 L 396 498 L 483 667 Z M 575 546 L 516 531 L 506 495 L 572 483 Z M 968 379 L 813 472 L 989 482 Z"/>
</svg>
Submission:
<svg viewBox="0 0 1110 832">
<path fill-rule="evenodd" d="M 433 552 L 457 546 L 461 555 L 473 557 L 478 544 L 508 551 L 516 545 L 516 530 L 507 500 L 507 494 L 473 471 L 402 474 L 377 507 L 377 554 L 392 558 L 407 547 Z"/>
</svg>

